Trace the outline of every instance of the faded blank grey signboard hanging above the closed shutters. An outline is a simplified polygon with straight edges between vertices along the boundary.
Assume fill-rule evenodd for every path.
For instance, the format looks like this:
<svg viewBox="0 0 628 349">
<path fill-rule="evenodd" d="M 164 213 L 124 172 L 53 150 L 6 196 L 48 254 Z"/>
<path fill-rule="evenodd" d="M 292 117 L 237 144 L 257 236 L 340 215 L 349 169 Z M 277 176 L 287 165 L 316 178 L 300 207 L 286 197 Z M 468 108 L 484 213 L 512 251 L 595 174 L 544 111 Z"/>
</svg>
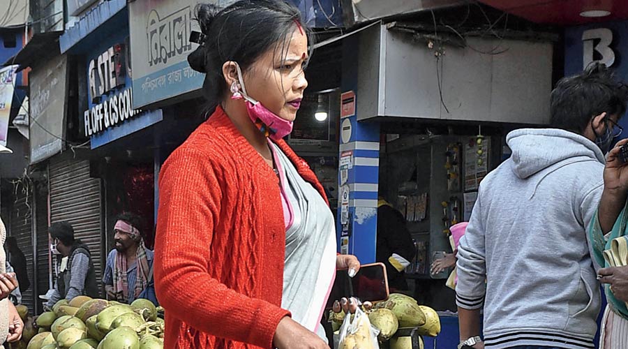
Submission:
<svg viewBox="0 0 628 349">
<path fill-rule="evenodd" d="M 29 140 L 32 163 L 43 161 L 63 149 L 68 91 L 68 59 L 65 54 L 31 67 Z"/>
</svg>

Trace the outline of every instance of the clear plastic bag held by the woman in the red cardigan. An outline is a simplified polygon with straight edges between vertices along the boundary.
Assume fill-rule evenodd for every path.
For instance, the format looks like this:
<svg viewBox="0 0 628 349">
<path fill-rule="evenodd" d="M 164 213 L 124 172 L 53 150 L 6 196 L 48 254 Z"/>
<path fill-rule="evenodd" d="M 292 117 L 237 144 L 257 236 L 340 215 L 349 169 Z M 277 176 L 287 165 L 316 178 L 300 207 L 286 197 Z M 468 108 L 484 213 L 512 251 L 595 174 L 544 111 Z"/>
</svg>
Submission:
<svg viewBox="0 0 628 349">
<path fill-rule="evenodd" d="M 377 334 L 380 331 L 371 325 L 368 315 L 357 309 L 353 321 L 347 314 L 343 325 L 338 330 L 340 340 L 338 349 L 380 349 L 377 343 Z"/>
</svg>

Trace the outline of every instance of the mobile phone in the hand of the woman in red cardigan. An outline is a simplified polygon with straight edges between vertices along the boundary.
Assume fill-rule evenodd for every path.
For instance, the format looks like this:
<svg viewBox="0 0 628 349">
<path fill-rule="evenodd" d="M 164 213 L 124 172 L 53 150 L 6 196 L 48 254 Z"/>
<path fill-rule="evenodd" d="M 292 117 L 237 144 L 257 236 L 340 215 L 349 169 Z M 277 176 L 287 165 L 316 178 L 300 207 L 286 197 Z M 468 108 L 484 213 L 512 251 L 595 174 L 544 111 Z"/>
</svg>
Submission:
<svg viewBox="0 0 628 349">
<path fill-rule="evenodd" d="M 331 309 L 334 301 L 343 297 L 355 297 L 361 302 L 381 302 L 388 299 L 388 295 L 388 276 L 383 263 L 361 265 L 352 278 L 347 269 L 338 269 L 325 309 Z"/>
</svg>

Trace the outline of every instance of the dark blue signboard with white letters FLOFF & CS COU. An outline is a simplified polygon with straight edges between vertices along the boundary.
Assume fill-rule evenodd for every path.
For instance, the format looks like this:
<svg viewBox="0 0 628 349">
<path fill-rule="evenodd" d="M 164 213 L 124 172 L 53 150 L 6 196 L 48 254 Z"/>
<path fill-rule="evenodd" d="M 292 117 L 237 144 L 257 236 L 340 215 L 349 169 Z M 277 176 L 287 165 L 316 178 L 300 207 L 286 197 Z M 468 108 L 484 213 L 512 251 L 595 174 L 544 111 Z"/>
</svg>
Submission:
<svg viewBox="0 0 628 349">
<path fill-rule="evenodd" d="M 84 134 L 91 149 L 161 121 L 161 111 L 133 108 L 126 33 L 98 43 L 87 56 L 88 109 L 83 112 Z"/>
</svg>

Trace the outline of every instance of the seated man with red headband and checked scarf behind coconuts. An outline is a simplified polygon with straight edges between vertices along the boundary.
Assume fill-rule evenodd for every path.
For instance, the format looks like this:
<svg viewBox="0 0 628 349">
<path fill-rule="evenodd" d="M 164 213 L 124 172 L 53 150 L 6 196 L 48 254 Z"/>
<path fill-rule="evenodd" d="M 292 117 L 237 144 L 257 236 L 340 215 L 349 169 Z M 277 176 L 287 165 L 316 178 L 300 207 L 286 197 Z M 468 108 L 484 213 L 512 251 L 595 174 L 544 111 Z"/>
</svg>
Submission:
<svg viewBox="0 0 628 349">
<path fill-rule="evenodd" d="M 116 248 L 107 256 L 103 283 L 107 299 L 132 303 L 147 288 L 153 267 L 153 251 L 144 246 L 139 216 L 125 212 L 114 226 Z"/>
</svg>

